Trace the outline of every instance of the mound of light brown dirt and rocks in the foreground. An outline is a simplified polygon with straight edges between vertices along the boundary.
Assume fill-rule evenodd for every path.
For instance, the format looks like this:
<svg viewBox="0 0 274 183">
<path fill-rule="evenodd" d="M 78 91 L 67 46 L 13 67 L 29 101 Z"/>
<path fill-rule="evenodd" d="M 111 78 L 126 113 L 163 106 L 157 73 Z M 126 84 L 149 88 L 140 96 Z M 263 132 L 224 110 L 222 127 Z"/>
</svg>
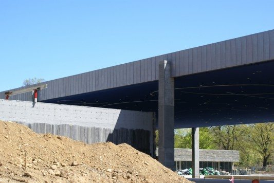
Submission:
<svg viewBox="0 0 274 183">
<path fill-rule="evenodd" d="M 26 166 L 26 172 L 25 172 Z M 85 144 L 0 121 L 0 181 L 190 182 L 130 145 Z"/>
</svg>

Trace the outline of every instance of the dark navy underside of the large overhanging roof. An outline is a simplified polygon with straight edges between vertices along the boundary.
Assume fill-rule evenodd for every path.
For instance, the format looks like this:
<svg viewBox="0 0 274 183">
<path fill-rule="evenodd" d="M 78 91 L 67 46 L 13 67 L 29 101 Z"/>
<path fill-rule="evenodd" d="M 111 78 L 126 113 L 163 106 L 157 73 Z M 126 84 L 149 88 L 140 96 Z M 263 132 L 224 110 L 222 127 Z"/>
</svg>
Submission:
<svg viewBox="0 0 274 183">
<path fill-rule="evenodd" d="M 175 78 L 175 127 L 274 121 L 274 61 Z M 41 102 L 158 111 L 158 82 Z"/>
</svg>

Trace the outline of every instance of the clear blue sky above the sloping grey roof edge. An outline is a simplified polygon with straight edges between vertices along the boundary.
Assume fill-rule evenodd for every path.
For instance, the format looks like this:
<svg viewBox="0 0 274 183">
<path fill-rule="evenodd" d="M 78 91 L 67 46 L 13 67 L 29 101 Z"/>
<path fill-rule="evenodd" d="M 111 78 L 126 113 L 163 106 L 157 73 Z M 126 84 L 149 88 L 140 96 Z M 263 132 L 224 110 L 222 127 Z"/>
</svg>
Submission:
<svg viewBox="0 0 274 183">
<path fill-rule="evenodd" d="M 274 29 L 274 1 L 0 0 L 0 91 Z"/>
</svg>

